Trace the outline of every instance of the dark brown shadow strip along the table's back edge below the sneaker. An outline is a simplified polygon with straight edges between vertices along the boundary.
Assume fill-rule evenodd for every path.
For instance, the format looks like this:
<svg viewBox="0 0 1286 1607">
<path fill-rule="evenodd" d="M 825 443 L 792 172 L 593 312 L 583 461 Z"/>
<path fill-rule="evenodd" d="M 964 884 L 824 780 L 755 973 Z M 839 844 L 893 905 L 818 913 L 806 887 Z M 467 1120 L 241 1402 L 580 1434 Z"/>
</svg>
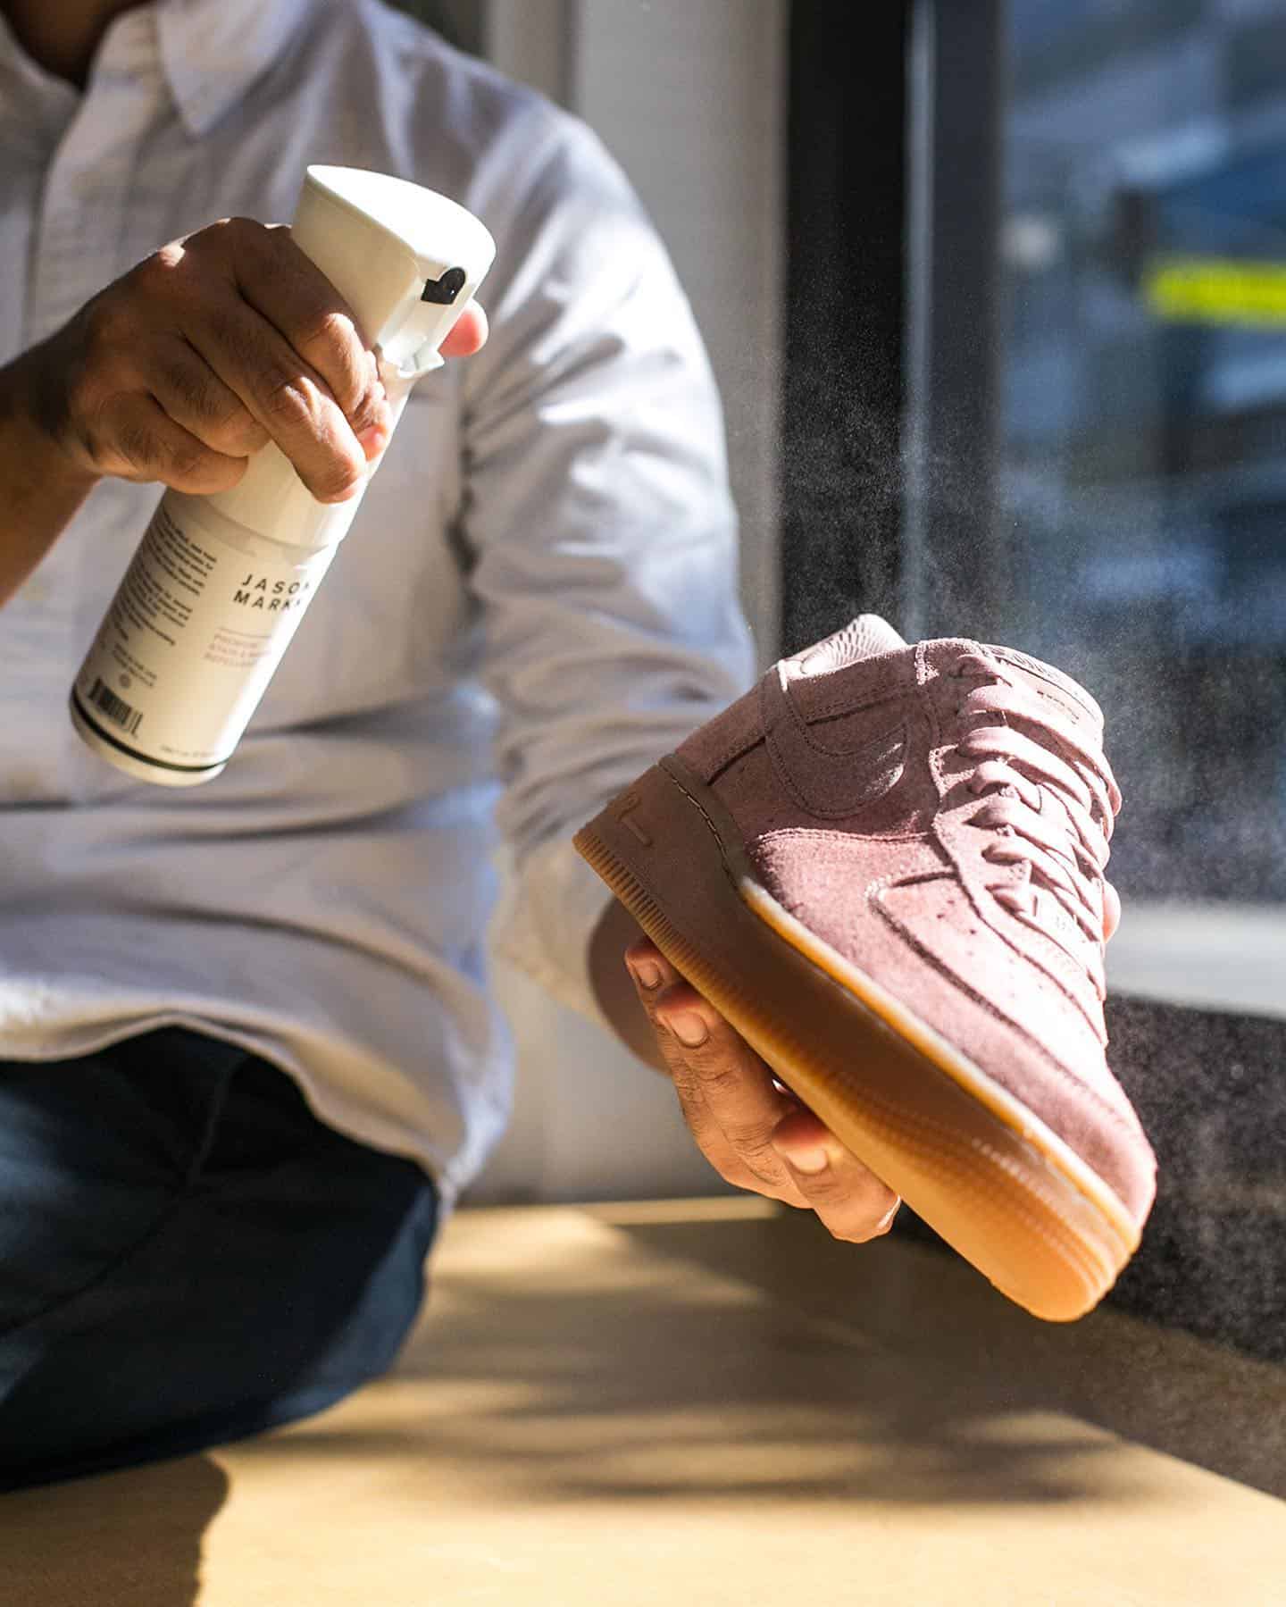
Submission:
<svg viewBox="0 0 1286 1607">
<path fill-rule="evenodd" d="M 601 1207 L 608 1220 L 620 1207 Z M 629 1215 L 629 1207 L 624 1208 Z M 963 1393 L 979 1417 L 1064 1413 L 1083 1424 L 1286 1498 L 1286 1369 L 1101 1306 L 1042 1323 L 940 1242 L 854 1247 L 817 1218 L 764 1223 L 625 1220 L 649 1250 L 833 1319 L 923 1369 L 926 1401 Z"/>
</svg>

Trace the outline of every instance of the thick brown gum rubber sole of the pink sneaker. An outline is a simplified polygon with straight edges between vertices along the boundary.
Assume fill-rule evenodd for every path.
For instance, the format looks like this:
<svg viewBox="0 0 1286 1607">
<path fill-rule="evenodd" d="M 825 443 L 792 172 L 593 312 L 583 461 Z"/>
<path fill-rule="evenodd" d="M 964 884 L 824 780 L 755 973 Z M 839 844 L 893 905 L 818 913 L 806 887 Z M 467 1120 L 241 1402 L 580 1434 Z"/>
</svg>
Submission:
<svg viewBox="0 0 1286 1607">
<path fill-rule="evenodd" d="M 1091 1310 L 1138 1229 L 1038 1117 L 754 877 L 731 818 L 662 760 L 575 847 L 667 959 L 871 1172 L 1005 1295 Z"/>
</svg>

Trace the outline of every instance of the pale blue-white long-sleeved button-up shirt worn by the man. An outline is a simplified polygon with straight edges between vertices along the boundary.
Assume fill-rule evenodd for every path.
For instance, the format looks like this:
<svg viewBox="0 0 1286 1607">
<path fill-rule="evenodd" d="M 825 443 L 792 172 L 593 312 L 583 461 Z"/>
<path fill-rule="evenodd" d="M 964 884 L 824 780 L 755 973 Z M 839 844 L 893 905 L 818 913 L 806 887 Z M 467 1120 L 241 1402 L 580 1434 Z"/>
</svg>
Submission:
<svg viewBox="0 0 1286 1607">
<path fill-rule="evenodd" d="M 492 337 L 420 384 L 228 770 L 132 783 L 68 720 L 158 489 L 104 480 L 0 609 L 0 1056 L 185 1024 L 291 1072 L 445 1196 L 510 1083 L 506 950 L 588 1003 L 569 836 L 751 673 L 714 386 L 653 228 L 574 119 L 371 0 L 122 14 L 85 93 L 0 22 L 0 355 L 310 162 L 461 201 Z M 2 514 L 0 514 L 2 517 Z"/>
</svg>

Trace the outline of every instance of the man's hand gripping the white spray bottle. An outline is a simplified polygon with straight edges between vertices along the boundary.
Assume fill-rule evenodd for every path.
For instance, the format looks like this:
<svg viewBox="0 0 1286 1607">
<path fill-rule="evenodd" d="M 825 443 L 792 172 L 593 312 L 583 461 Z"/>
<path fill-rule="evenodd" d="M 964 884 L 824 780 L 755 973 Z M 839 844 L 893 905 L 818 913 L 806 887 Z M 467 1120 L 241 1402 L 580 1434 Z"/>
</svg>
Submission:
<svg viewBox="0 0 1286 1607">
<path fill-rule="evenodd" d="M 485 339 L 466 309 L 448 357 Z M 275 440 L 318 501 L 346 501 L 389 437 L 352 310 L 286 227 L 225 219 L 162 246 L 24 355 L 29 413 L 69 476 L 228 490 Z"/>
</svg>

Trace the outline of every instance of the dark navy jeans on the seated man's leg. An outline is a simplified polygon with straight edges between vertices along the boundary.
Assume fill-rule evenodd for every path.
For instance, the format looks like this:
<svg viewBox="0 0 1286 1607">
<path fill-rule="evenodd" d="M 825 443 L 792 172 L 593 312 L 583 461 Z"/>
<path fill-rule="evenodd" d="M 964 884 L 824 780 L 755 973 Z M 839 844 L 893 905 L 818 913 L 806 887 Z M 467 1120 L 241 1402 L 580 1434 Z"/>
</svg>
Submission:
<svg viewBox="0 0 1286 1607">
<path fill-rule="evenodd" d="M 424 1172 L 180 1028 L 0 1061 L 0 1490 L 330 1406 L 424 1292 Z"/>
</svg>

